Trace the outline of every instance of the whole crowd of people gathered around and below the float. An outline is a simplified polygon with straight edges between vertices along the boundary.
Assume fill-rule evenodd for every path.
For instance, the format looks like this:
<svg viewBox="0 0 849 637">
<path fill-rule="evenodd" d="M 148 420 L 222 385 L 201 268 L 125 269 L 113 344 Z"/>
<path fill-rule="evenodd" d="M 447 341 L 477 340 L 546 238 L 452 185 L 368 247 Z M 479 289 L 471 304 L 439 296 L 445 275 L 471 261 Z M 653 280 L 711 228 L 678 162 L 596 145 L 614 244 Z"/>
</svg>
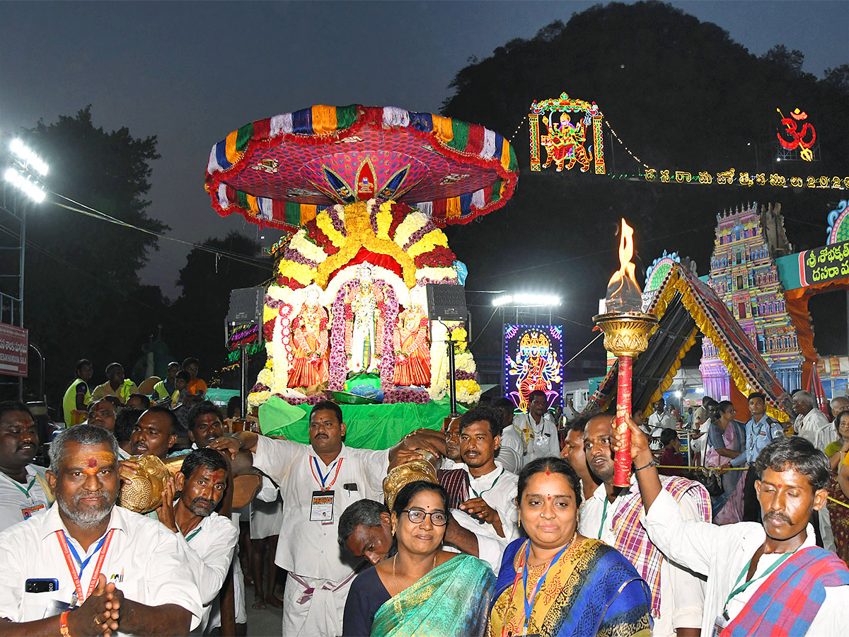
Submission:
<svg viewBox="0 0 849 637">
<path fill-rule="evenodd" d="M 0 634 L 217 634 L 228 573 L 237 634 L 246 581 L 255 608 L 282 606 L 284 635 L 846 633 L 846 397 L 829 422 L 796 392 L 789 424 L 762 394 L 745 422 L 706 397 L 691 457 L 711 481 L 676 461 L 655 403 L 627 418 L 622 487 L 615 415 L 562 426 L 544 392 L 526 413 L 499 399 L 438 429 L 405 423 L 371 450 L 346 446 L 330 401 L 307 444 L 228 426 L 194 359 L 150 394 L 118 364 L 88 392 L 91 372 L 77 366 L 47 467 L 29 409 L 0 403 Z M 176 469 L 140 515 L 117 503 L 143 456 Z M 260 486 L 233 516 L 250 474 Z"/>
</svg>

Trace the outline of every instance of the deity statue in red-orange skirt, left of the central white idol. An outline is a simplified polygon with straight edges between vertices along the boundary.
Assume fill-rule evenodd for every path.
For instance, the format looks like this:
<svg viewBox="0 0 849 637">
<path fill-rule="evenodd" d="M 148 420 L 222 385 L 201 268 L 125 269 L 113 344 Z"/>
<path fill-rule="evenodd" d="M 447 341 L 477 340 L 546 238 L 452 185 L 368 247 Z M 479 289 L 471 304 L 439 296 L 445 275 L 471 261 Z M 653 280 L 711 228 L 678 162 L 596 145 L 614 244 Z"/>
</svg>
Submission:
<svg viewBox="0 0 849 637">
<path fill-rule="evenodd" d="M 328 380 L 328 314 L 318 299 L 321 288 L 310 285 L 301 312 L 292 321 L 294 356 L 289 372 L 290 387 L 310 387 Z"/>
</svg>

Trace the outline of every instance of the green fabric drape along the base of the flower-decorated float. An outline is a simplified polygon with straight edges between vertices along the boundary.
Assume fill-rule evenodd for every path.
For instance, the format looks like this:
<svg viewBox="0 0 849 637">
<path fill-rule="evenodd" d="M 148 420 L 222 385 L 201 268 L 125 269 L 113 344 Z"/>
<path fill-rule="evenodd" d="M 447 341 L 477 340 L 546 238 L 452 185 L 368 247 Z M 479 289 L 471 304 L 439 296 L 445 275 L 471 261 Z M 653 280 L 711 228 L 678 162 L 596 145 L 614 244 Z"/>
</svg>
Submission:
<svg viewBox="0 0 849 637">
<path fill-rule="evenodd" d="M 340 405 L 345 420 L 345 443 L 361 449 L 388 449 L 410 431 L 441 429 L 442 419 L 451 413 L 448 399 L 430 403 Z M 260 406 L 260 428 L 266 436 L 284 436 L 295 443 L 308 444 L 308 417 L 311 405 L 290 405 L 272 396 Z M 466 409 L 457 406 L 460 413 Z"/>
</svg>

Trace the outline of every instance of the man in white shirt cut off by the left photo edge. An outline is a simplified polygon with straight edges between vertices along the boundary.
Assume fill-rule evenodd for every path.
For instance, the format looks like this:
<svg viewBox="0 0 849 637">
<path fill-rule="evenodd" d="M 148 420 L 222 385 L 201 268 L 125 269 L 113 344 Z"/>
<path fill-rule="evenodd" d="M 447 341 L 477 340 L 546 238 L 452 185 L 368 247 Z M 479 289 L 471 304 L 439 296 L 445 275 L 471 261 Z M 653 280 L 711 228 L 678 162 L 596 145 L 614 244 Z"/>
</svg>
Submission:
<svg viewBox="0 0 849 637">
<path fill-rule="evenodd" d="M 0 531 L 53 503 L 45 470 L 33 465 L 38 429 L 24 403 L 0 403 Z"/>
</svg>

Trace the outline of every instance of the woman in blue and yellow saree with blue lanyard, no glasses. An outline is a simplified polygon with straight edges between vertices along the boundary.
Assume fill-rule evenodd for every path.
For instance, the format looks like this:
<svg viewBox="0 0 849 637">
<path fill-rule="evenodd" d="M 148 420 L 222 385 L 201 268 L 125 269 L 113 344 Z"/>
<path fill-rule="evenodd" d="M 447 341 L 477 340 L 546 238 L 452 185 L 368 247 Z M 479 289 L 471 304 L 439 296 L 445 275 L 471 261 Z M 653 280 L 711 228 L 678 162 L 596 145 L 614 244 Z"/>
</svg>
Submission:
<svg viewBox="0 0 849 637">
<path fill-rule="evenodd" d="M 489 634 L 650 635 L 649 589 L 631 562 L 576 532 L 581 488 L 571 465 L 532 461 L 519 475 L 518 492 L 528 538 L 504 552 Z"/>
</svg>

